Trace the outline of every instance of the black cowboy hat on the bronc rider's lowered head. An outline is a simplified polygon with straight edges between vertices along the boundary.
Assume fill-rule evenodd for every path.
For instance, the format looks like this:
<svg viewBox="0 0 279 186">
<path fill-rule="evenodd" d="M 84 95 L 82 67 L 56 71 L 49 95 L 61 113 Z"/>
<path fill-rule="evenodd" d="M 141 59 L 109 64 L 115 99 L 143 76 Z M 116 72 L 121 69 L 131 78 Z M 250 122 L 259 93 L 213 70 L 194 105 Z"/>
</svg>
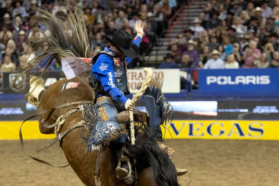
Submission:
<svg viewBox="0 0 279 186">
<path fill-rule="evenodd" d="M 129 58 L 136 58 L 139 54 L 139 48 L 132 41 L 131 35 L 123 30 L 117 30 L 112 38 L 102 35 L 113 46 L 116 46 L 124 56 Z"/>
</svg>

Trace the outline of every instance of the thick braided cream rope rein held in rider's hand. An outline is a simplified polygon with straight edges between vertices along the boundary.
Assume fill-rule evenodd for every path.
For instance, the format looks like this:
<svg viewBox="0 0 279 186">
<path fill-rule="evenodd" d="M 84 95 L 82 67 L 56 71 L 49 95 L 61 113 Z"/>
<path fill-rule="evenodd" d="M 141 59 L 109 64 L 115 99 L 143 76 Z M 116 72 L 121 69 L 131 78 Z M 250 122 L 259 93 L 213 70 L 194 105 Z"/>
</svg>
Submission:
<svg viewBox="0 0 279 186">
<path fill-rule="evenodd" d="M 151 68 L 144 68 L 143 71 L 146 73 L 146 78 L 142 82 L 139 92 L 133 95 L 131 103 L 134 105 L 141 98 L 141 96 L 143 95 L 143 93 L 145 92 L 147 87 L 149 86 L 151 78 L 152 78 L 153 71 L 151 70 Z M 134 125 L 133 111 L 129 111 L 129 114 L 130 114 L 129 117 L 130 117 L 131 144 L 134 145 L 136 139 L 135 139 L 135 125 Z"/>
</svg>

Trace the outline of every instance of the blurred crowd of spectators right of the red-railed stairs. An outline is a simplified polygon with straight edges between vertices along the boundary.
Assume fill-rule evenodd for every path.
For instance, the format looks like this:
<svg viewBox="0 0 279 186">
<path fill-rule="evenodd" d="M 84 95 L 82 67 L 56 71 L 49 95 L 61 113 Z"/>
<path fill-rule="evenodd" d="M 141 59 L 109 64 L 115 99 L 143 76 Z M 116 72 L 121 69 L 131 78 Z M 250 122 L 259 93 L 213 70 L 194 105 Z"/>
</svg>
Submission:
<svg viewBox="0 0 279 186">
<path fill-rule="evenodd" d="M 279 0 L 210 0 L 160 68 L 279 67 Z"/>
</svg>

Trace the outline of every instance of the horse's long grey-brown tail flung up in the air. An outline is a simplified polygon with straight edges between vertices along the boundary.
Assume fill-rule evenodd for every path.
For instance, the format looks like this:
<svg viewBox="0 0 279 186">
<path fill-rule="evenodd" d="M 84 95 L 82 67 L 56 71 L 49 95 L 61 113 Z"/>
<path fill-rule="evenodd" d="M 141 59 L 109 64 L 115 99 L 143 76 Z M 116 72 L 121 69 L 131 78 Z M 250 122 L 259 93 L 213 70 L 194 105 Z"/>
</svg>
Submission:
<svg viewBox="0 0 279 186">
<path fill-rule="evenodd" d="M 37 11 L 39 14 L 31 18 L 31 24 L 40 23 L 46 26 L 48 30 L 44 33 L 43 38 L 33 41 L 30 46 L 36 57 L 13 72 L 20 73 L 25 77 L 42 71 L 39 75 L 39 77 L 42 77 L 48 71 L 48 67 L 52 65 L 54 59 L 56 63 L 61 65 L 61 58 L 63 57 L 90 58 L 94 55 L 93 46 L 89 42 L 83 14 L 80 10 L 74 13 L 68 11 L 67 18 L 58 18 L 46 9 L 37 9 Z M 49 47 L 45 52 L 39 54 L 44 42 L 47 42 Z M 38 68 L 39 64 L 41 67 Z M 42 67 L 44 70 L 42 70 Z M 20 77 L 20 75 L 17 77 Z M 28 82 L 28 77 L 26 82 Z"/>
</svg>

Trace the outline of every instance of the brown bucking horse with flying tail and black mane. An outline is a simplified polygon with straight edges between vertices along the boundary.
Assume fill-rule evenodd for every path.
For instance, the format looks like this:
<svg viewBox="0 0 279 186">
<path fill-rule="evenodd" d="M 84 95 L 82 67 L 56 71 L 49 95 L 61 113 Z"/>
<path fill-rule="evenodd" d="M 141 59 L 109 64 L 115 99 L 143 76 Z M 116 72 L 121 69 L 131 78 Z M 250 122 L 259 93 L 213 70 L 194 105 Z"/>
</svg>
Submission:
<svg viewBox="0 0 279 186">
<path fill-rule="evenodd" d="M 58 64 L 61 64 L 60 60 L 63 57 L 94 56 L 82 13 L 80 11 L 70 12 L 67 18 L 58 18 L 46 10 L 38 9 L 38 11 L 40 14 L 33 16 L 31 23 L 43 24 L 48 28 L 48 32 L 42 39 L 35 41 L 32 44 L 32 48 L 38 53 L 40 46 L 44 42 L 49 44 L 49 48 L 15 71 L 20 73 L 19 77 L 26 76 L 25 79 L 30 82 L 30 90 L 25 98 L 37 108 L 37 114 L 34 117 L 37 116 L 38 118 L 40 132 L 42 134 L 57 135 L 51 142 L 36 148 L 36 151 L 43 150 L 55 142 L 59 142 L 69 165 L 85 185 L 126 185 L 115 174 L 118 162 L 114 153 L 113 143 L 104 143 L 100 149 L 85 153 L 87 148 L 86 134 L 87 132 L 90 133 L 91 116 L 94 115 L 92 113 L 94 109 L 90 109 L 94 106 L 94 92 L 88 83 L 88 75 L 79 75 L 70 80 L 64 78 L 47 89 L 44 88 L 42 77 L 47 72 L 53 59 Z M 46 58 L 48 60 L 41 64 Z M 38 64 L 41 64 L 39 69 L 37 68 Z M 38 77 L 34 76 L 38 72 L 40 72 L 40 75 Z M 29 75 L 30 78 L 27 78 Z M 15 79 L 16 81 L 17 79 Z M 75 82 L 79 82 L 76 88 L 63 90 L 65 85 Z M 162 86 L 160 82 L 161 80 L 153 79 L 153 84 L 151 83 L 152 85 L 149 85 L 146 91 L 149 91 L 154 103 L 161 101 L 159 104 L 164 104 L 163 95 L 160 93 Z M 159 105 L 159 107 L 155 107 L 153 112 L 156 109 L 161 109 L 162 105 Z M 118 132 L 130 134 L 128 111 L 119 113 L 117 119 L 123 126 L 123 130 Z M 149 130 L 150 123 L 146 113 L 134 112 L 133 122 L 135 123 L 135 144 L 125 144 L 125 148 L 129 149 L 127 154 L 129 154 L 131 163 L 135 167 L 136 179 L 132 185 L 179 185 L 176 168 L 169 155 L 171 152 L 168 154 L 168 148 L 162 143 L 158 145 Z M 24 150 L 21 131 L 20 142 Z M 32 158 L 47 165 L 52 165 L 43 160 Z"/>
</svg>

